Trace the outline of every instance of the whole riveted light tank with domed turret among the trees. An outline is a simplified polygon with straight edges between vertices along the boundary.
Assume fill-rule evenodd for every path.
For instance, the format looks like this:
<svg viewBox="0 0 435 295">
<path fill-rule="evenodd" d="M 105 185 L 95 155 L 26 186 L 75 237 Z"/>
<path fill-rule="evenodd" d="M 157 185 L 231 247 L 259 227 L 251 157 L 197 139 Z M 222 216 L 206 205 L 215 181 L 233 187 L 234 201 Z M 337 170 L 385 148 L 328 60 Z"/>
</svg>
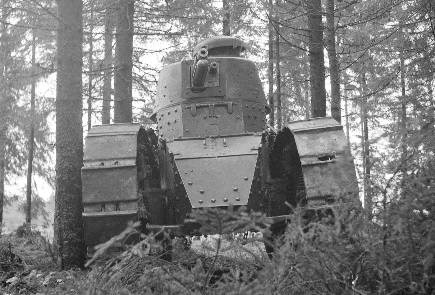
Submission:
<svg viewBox="0 0 435 295">
<path fill-rule="evenodd" d="M 82 169 L 88 254 L 129 220 L 145 231 L 193 235 L 184 222 L 192 210 L 247 206 L 277 232 L 292 206 L 358 202 L 342 126 L 322 117 L 275 132 L 258 67 L 241 57 L 244 50 L 241 40 L 217 36 L 197 44 L 193 60 L 165 66 L 151 116 L 157 130 L 137 123 L 90 129 Z"/>
</svg>

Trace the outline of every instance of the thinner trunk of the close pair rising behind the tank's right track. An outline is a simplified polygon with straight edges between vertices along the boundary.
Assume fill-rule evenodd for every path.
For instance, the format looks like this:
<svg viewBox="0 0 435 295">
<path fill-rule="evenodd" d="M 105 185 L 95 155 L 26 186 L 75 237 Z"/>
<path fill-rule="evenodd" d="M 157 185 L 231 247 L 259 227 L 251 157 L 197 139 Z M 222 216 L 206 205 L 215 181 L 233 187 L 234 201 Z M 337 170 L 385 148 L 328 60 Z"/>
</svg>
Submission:
<svg viewBox="0 0 435 295">
<path fill-rule="evenodd" d="M 326 0 L 326 50 L 328 51 L 331 79 L 331 116 L 341 123 L 340 80 L 335 50 L 334 0 Z"/>
</svg>

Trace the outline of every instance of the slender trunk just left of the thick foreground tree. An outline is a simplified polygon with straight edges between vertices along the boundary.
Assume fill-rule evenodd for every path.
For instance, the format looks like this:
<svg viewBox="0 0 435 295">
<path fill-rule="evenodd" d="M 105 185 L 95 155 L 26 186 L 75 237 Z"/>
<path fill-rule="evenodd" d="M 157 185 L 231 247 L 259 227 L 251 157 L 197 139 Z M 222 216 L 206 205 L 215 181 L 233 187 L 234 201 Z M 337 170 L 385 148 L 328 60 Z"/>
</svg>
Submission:
<svg viewBox="0 0 435 295">
<path fill-rule="evenodd" d="M 36 33 L 32 30 L 32 68 L 35 69 Z M 34 75 L 35 73 L 33 73 Z M 27 154 L 27 191 L 26 191 L 26 222 L 31 222 L 32 217 L 32 170 L 33 170 L 33 145 L 35 129 L 35 87 L 36 79 L 33 78 L 30 90 L 30 132 L 29 147 Z"/>
</svg>

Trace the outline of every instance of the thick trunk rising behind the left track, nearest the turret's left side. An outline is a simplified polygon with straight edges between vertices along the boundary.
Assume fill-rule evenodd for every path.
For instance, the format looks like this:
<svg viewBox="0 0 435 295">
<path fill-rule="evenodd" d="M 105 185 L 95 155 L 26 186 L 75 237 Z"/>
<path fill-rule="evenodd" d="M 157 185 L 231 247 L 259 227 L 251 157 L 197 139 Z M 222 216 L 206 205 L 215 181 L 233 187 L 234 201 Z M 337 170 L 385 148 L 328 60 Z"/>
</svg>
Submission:
<svg viewBox="0 0 435 295">
<path fill-rule="evenodd" d="M 134 0 L 119 0 L 116 7 L 114 123 L 133 122 Z"/>
</svg>

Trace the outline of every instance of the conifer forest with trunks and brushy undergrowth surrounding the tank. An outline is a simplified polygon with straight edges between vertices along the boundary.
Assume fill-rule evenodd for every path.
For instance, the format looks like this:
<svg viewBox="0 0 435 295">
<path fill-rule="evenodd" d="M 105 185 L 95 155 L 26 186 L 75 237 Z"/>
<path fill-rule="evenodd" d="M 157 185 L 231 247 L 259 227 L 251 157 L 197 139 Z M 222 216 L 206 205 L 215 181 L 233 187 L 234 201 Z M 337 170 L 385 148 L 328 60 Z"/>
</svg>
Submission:
<svg viewBox="0 0 435 295">
<path fill-rule="evenodd" d="M 0 3 L 2 294 L 435 294 L 435 2 Z M 167 261 L 144 247 L 156 236 L 124 243 L 137 234 L 131 224 L 86 261 L 88 131 L 157 129 L 150 116 L 162 67 L 192 60 L 197 43 L 220 35 L 246 44 L 272 129 L 323 116 L 341 123 L 361 210 L 306 222 L 296 207 L 271 258 L 258 235 L 247 244 L 223 238 L 234 228 L 268 231 L 261 212 L 241 208 L 192 214 L 221 234 L 201 251 L 174 240 Z M 8 208 L 25 222 L 8 227 Z"/>
</svg>

